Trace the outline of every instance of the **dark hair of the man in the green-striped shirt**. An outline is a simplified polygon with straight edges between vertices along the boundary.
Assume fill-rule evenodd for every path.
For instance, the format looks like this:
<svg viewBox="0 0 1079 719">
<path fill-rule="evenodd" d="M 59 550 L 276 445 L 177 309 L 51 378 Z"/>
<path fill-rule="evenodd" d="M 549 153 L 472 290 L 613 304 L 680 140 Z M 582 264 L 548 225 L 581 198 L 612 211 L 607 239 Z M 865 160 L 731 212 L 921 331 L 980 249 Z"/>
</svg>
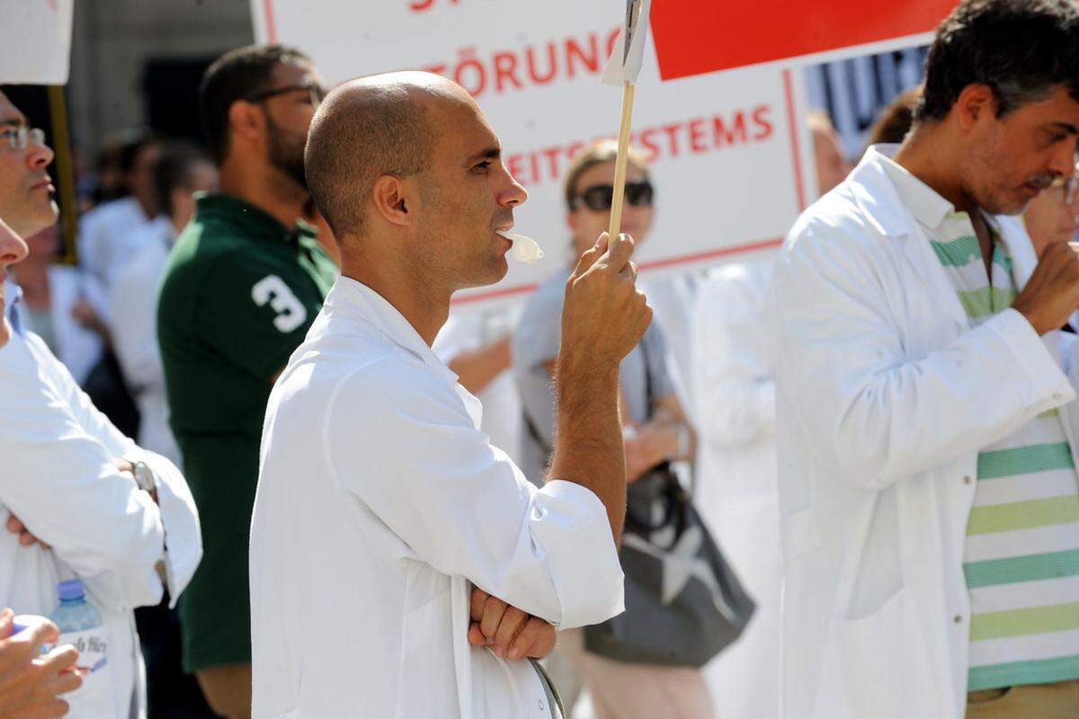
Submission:
<svg viewBox="0 0 1079 719">
<path fill-rule="evenodd" d="M 937 29 L 916 122 L 943 120 L 965 87 L 988 85 L 997 116 L 1067 85 L 1079 99 L 1074 0 L 964 0 Z"/>
</svg>

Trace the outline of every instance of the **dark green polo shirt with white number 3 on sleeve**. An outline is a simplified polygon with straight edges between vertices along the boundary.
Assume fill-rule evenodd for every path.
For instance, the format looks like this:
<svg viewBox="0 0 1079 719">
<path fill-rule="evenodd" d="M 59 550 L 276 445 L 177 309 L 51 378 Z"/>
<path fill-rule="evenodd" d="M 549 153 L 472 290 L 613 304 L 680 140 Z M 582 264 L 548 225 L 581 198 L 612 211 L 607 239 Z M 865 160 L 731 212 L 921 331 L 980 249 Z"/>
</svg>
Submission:
<svg viewBox="0 0 1079 719">
<path fill-rule="evenodd" d="M 169 255 L 158 336 L 203 536 L 180 600 L 189 672 L 251 661 L 247 548 L 262 418 L 337 272 L 311 226 L 288 229 L 224 194 L 196 199 Z"/>
</svg>

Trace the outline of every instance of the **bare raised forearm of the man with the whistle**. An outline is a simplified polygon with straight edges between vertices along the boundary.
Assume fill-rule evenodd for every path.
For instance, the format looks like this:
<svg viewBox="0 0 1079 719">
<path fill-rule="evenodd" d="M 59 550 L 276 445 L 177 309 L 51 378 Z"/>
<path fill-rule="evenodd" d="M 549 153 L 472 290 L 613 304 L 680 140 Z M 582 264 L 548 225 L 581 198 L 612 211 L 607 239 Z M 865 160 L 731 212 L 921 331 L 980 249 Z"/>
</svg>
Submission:
<svg viewBox="0 0 1079 719">
<path fill-rule="evenodd" d="M 606 507 L 615 542 L 626 517 L 626 452 L 618 417 L 618 368 L 559 359 L 550 478 L 591 489 Z"/>
</svg>

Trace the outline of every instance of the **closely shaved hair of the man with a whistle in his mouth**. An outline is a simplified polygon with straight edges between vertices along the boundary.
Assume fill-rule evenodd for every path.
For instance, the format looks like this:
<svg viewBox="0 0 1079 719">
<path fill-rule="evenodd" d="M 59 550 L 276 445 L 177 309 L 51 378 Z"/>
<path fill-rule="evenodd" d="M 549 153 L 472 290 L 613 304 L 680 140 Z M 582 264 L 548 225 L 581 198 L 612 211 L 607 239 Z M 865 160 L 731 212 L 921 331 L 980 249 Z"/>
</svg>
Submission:
<svg viewBox="0 0 1079 719">
<path fill-rule="evenodd" d="M 311 196 L 333 235 L 363 236 L 367 199 L 383 176 L 431 167 L 438 110 L 472 103 L 457 85 L 428 72 L 351 80 L 331 92 L 311 124 L 304 166 Z"/>
</svg>

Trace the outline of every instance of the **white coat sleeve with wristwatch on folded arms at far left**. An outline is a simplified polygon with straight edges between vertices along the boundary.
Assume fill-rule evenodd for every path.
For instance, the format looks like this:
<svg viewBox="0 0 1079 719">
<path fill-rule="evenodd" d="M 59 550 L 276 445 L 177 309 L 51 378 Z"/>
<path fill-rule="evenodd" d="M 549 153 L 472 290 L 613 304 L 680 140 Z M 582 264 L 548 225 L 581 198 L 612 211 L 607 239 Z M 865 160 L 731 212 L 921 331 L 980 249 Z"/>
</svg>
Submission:
<svg viewBox="0 0 1079 719">
<path fill-rule="evenodd" d="M 156 604 L 155 565 L 164 559 L 175 602 L 202 554 L 186 482 L 170 461 L 113 427 L 44 343 L 29 343 L 52 382 L 4 383 L 15 387 L 0 402 L 2 455 L 13 470 L 0 479 L 8 506 L 103 596 L 132 607 Z M 160 507 L 117 468 L 120 459 L 153 470 Z"/>
</svg>

